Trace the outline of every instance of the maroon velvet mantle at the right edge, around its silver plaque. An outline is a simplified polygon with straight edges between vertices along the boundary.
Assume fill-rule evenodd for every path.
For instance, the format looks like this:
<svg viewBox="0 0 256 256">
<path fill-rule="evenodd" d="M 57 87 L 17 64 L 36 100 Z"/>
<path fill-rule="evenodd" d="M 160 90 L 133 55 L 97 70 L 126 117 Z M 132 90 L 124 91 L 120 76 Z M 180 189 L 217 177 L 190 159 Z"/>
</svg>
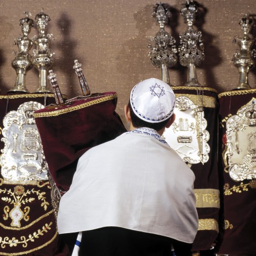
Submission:
<svg viewBox="0 0 256 256">
<path fill-rule="evenodd" d="M 218 253 L 256 255 L 256 181 L 244 180 L 241 182 L 232 180 L 229 173 L 225 172 L 225 167 L 228 170 L 228 166 L 225 165 L 222 157 L 227 142 L 227 119 L 231 115 L 236 115 L 238 109 L 246 105 L 252 98 L 256 98 L 256 90 L 239 90 L 230 92 L 230 94 L 229 92 L 226 93 L 225 95 L 220 94 L 219 100 L 219 170 L 221 174 L 223 211 Z M 245 143 L 247 144 L 247 141 Z"/>
</svg>

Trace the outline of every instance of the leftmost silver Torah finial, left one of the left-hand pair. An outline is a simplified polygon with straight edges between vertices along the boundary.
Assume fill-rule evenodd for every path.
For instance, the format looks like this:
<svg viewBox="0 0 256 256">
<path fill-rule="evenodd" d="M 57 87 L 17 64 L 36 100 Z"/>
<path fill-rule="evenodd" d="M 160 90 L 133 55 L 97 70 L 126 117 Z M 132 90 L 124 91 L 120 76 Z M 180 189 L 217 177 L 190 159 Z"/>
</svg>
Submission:
<svg viewBox="0 0 256 256">
<path fill-rule="evenodd" d="M 26 92 L 28 90 L 25 84 L 25 76 L 27 71 L 30 70 L 33 65 L 31 61 L 31 56 L 29 50 L 31 49 L 33 42 L 28 38 L 28 34 L 31 31 L 31 27 L 34 26 L 34 20 L 30 19 L 31 15 L 29 12 L 24 12 L 26 14 L 25 18 L 20 19 L 20 26 L 22 31 L 22 36 L 19 36 L 14 44 L 18 46 L 18 54 L 12 61 L 12 67 L 16 70 L 17 78 L 15 85 L 8 92 Z"/>
</svg>

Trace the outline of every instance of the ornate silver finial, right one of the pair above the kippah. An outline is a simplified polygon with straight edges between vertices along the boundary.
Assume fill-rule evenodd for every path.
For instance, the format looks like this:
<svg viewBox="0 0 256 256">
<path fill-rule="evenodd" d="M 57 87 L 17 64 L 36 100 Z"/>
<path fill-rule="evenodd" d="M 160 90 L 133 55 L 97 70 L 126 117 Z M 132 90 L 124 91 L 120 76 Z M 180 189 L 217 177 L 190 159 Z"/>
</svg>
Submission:
<svg viewBox="0 0 256 256">
<path fill-rule="evenodd" d="M 201 31 L 193 29 L 198 7 L 194 1 L 186 1 L 181 5 L 180 13 L 188 29 L 180 34 L 179 61 L 182 66 L 188 67 L 186 86 L 202 86 L 197 81 L 196 66 L 204 60 L 204 44 Z"/>
</svg>

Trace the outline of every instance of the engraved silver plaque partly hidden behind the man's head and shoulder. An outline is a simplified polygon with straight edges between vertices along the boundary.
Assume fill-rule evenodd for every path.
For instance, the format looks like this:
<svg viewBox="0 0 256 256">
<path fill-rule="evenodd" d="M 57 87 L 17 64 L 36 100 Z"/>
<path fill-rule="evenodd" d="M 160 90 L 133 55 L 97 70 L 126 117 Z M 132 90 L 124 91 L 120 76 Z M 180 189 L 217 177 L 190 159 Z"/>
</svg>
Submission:
<svg viewBox="0 0 256 256">
<path fill-rule="evenodd" d="M 184 162 L 206 163 L 209 160 L 210 135 L 202 107 L 198 107 L 187 97 L 177 97 L 175 102 L 175 122 L 165 129 L 163 137 L 177 151 Z"/>
</svg>

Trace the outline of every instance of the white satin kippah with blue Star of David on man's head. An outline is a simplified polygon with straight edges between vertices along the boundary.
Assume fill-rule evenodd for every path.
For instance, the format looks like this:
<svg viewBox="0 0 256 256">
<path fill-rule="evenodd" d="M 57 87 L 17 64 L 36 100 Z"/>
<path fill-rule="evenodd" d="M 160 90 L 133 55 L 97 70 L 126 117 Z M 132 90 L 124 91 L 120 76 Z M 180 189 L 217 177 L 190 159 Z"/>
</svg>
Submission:
<svg viewBox="0 0 256 256">
<path fill-rule="evenodd" d="M 173 114 L 175 95 L 169 84 L 149 78 L 133 87 L 130 102 L 132 110 L 140 119 L 160 123 Z"/>
</svg>

